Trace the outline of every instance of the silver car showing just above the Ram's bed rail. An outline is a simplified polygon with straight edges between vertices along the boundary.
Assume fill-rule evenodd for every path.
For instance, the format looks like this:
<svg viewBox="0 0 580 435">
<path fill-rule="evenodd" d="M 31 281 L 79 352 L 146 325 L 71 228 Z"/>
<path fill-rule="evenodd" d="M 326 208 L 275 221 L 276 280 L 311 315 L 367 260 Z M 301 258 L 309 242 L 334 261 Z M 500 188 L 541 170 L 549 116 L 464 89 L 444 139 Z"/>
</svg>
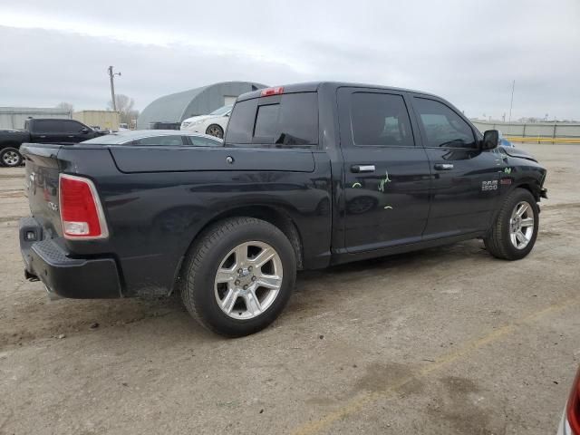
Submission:
<svg viewBox="0 0 580 435">
<path fill-rule="evenodd" d="M 221 147 L 221 139 L 194 131 L 126 130 L 82 142 L 86 145 L 134 145 L 168 147 Z"/>
</svg>

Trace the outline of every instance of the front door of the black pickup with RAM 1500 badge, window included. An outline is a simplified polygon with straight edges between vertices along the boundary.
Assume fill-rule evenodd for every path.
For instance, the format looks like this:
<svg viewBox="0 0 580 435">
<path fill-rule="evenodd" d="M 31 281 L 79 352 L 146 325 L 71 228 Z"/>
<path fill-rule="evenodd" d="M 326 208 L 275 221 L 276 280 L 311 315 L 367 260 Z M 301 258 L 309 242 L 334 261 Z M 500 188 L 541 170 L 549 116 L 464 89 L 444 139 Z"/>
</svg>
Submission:
<svg viewBox="0 0 580 435">
<path fill-rule="evenodd" d="M 479 150 L 476 131 L 449 103 L 414 95 L 412 106 L 433 172 L 424 237 L 486 229 L 499 195 L 498 154 Z"/>
</svg>

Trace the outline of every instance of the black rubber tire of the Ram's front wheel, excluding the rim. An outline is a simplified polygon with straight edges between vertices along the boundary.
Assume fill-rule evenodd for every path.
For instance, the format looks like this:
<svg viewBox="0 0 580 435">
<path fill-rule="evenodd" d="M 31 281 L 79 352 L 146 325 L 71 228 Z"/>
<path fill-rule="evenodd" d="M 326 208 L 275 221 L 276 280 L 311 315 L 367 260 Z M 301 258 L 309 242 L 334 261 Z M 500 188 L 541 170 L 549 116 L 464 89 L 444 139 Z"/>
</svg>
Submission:
<svg viewBox="0 0 580 435">
<path fill-rule="evenodd" d="M 532 237 L 526 247 L 518 249 L 510 237 L 510 220 L 512 212 L 517 205 L 526 201 L 530 206 L 534 217 Z M 519 260 L 530 253 L 536 243 L 537 228 L 539 226 L 539 213 L 536 198 L 527 189 L 515 189 L 507 195 L 498 213 L 496 221 L 489 230 L 484 243 L 489 253 L 496 258 L 504 260 Z"/>
</svg>

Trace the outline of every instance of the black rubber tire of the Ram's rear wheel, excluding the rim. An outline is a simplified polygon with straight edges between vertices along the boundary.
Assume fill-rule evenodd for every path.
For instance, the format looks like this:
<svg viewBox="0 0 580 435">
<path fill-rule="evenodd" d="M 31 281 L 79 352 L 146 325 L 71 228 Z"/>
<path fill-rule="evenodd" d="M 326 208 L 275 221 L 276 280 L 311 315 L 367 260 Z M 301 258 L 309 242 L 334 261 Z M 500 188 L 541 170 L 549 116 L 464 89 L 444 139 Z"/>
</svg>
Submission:
<svg viewBox="0 0 580 435">
<path fill-rule="evenodd" d="M 284 274 L 274 302 L 262 314 L 239 320 L 228 316 L 219 307 L 214 293 L 214 280 L 223 258 L 233 248 L 258 241 L 275 249 Z M 209 227 L 189 248 L 180 276 L 180 292 L 186 308 L 208 330 L 227 337 L 256 333 L 274 322 L 282 313 L 296 279 L 295 251 L 284 233 L 274 225 L 256 218 L 227 218 Z"/>
</svg>

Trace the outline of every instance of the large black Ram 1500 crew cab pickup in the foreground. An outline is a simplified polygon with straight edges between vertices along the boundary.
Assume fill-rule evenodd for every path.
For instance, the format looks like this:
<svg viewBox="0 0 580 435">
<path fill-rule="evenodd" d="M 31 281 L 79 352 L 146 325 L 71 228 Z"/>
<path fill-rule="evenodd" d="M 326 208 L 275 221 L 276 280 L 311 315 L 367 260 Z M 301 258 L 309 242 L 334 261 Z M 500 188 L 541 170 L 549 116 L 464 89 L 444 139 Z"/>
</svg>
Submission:
<svg viewBox="0 0 580 435">
<path fill-rule="evenodd" d="M 546 169 L 449 102 L 350 83 L 240 96 L 223 147 L 26 144 L 23 154 L 27 277 L 64 297 L 179 292 L 227 336 L 274 321 L 297 269 L 469 238 L 523 258 L 546 198 Z"/>
</svg>

